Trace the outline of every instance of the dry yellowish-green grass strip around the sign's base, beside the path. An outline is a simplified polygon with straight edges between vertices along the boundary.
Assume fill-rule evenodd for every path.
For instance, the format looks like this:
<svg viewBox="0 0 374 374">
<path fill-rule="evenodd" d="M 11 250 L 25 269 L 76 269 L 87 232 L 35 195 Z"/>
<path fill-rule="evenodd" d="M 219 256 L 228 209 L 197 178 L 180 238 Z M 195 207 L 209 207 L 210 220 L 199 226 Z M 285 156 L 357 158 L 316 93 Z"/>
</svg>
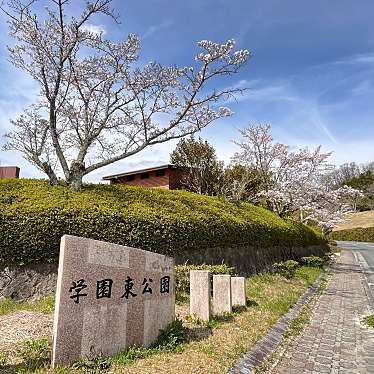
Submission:
<svg viewBox="0 0 374 374">
<path fill-rule="evenodd" d="M 188 302 L 184 303 L 177 307 L 183 325 L 177 323 L 169 331 L 167 342 L 153 349 L 132 348 L 117 357 L 82 362 L 55 373 L 226 373 L 297 302 L 320 272 L 319 268 L 301 267 L 292 279 L 269 273 L 252 276 L 247 280 L 248 306 L 242 310 L 204 324 L 187 316 Z M 19 363 L 5 366 L 2 372 L 50 373 L 49 344 L 26 343 Z"/>
</svg>

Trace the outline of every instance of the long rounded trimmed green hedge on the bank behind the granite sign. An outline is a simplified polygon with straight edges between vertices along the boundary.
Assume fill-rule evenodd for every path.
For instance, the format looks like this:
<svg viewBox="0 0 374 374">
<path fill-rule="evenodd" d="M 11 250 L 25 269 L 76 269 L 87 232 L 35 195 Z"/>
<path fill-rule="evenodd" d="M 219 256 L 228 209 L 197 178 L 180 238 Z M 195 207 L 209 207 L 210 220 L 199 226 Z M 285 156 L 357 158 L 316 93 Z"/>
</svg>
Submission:
<svg viewBox="0 0 374 374">
<path fill-rule="evenodd" d="M 173 256 L 190 249 L 303 246 L 321 237 L 251 204 L 184 191 L 39 180 L 0 181 L 0 265 L 53 262 L 64 234 Z"/>
</svg>

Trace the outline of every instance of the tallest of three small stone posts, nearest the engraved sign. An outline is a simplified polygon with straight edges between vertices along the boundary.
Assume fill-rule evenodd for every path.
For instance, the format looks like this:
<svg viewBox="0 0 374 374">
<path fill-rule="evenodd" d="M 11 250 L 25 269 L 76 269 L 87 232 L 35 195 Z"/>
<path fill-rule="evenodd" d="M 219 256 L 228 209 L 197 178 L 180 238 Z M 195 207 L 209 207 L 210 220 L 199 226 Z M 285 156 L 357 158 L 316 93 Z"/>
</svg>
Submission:
<svg viewBox="0 0 374 374">
<path fill-rule="evenodd" d="M 210 273 L 207 270 L 190 271 L 190 314 L 202 321 L 209 321 Z"/>
</svg>

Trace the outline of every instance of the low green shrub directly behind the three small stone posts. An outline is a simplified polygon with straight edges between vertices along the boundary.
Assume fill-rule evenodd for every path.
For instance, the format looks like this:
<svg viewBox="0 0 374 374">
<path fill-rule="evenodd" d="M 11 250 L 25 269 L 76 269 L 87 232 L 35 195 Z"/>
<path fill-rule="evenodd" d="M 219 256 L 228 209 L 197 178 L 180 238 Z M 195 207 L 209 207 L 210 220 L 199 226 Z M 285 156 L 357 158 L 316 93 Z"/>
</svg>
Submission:
<svg viewBox="0 0 374 374">
<path fill-rule="evenodd" d="M 190 271 L 209 270 L 212 274 L 235 274 L 235 268 L 222 265 L 177 265 L 175 267 L 175 292 L 177 295 L 190 293 Z"/>
</svg>

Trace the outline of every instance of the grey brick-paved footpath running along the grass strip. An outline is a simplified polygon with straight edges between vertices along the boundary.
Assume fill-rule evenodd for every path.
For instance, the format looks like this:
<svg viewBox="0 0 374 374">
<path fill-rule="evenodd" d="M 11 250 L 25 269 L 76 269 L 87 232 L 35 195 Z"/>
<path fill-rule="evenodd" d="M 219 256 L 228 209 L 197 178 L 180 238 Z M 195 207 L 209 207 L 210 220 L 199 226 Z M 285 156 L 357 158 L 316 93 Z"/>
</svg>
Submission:
<svg viewBox="0 0 374 374">
<path fill-rule="evenodd" d="M 360 324 L 370 312 L 362 270 L 344 250 L 310 324 L 287 349 L 274 374 L 374 374 L 374 329 Z"/>
</svg>

